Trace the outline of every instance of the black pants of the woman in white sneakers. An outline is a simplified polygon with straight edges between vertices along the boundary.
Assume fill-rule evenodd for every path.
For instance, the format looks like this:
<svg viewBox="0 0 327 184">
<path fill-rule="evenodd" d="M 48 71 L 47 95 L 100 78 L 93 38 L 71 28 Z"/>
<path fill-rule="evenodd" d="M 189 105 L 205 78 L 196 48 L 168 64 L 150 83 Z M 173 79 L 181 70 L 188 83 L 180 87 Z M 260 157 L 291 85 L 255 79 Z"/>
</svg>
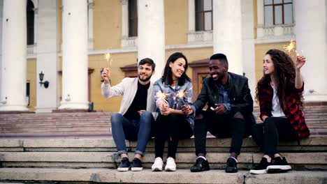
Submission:
<svg viewBox="0 0 327 184">
<path fill-rule="evenodd" d="M 175 159 L 178 139 L 189 139 L 193 135 L 191 125 L 186 119 L 186 116 L 181 114 L 169 114 L 162 116 L 159 114 L 155 123 L 155 158 L 163 158 L 163 148 L 165 141 L 168 141 L 168 157 Z"/>
</svg>

